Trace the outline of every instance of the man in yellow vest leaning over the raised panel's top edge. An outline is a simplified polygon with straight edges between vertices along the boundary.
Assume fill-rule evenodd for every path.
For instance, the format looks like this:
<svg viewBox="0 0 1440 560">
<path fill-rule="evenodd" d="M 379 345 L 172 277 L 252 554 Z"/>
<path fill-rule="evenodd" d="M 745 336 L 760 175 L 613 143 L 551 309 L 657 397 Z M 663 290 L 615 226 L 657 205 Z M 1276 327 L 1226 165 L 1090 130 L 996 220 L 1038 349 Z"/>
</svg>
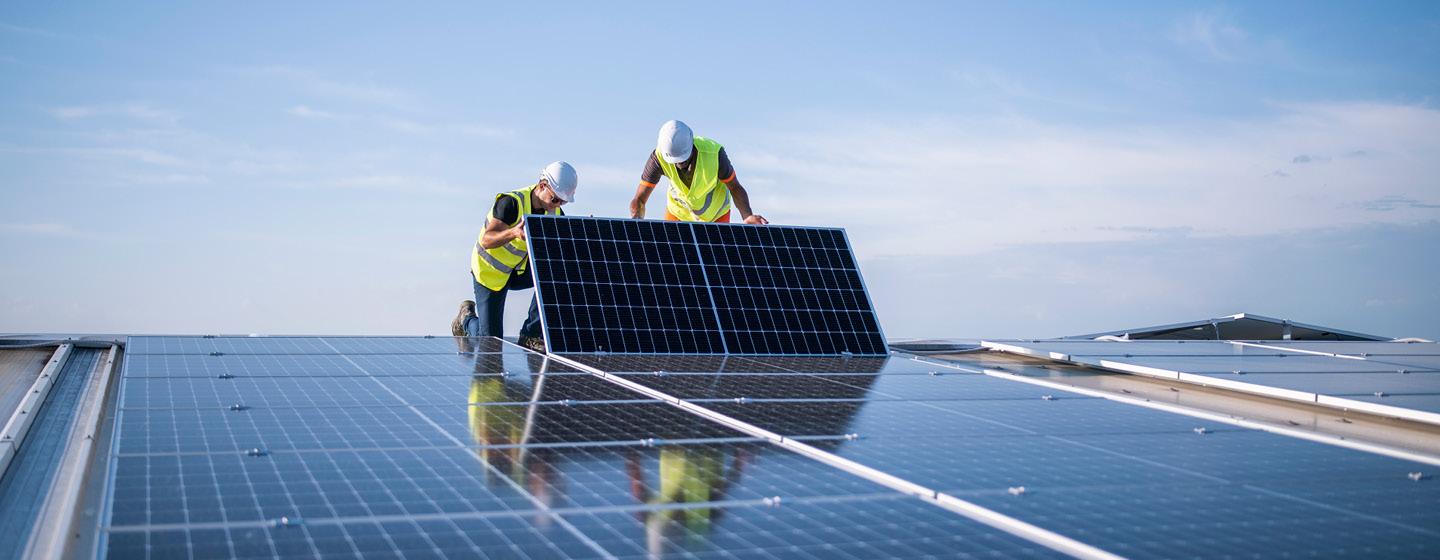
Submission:
<svg viewBox="0 0 1440 560">
<path fill-rule="evenodd" d="M 649 153 L 639 176 L 639 189 L 631 199 L 631 217 L 645 217 L 645 202 L 660 176 L 670 179 L 665 202 L 667 220 L 730 222 L 730 204 L 740 209 L 744 223 L 770 223 L 750 212 L 750 194 L 734 177 L 734 167 L 720 143 L 697 137 L 684 122 L 665 121 L 660 127 L 655 151 Z"/>
</svg>

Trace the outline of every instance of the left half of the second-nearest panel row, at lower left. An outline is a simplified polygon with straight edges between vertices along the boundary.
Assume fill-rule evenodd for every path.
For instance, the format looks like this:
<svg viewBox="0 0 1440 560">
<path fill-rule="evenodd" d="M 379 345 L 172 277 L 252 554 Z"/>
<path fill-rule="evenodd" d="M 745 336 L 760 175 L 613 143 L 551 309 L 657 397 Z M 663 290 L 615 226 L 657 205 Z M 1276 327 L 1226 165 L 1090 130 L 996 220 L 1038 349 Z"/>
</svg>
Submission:
<svg viewBox="0 0 1440 560">
<path fill-rule="evenodd" d="M 469 449 L 115 459 L 111 525 L 531 510 Z"/>
</svg>

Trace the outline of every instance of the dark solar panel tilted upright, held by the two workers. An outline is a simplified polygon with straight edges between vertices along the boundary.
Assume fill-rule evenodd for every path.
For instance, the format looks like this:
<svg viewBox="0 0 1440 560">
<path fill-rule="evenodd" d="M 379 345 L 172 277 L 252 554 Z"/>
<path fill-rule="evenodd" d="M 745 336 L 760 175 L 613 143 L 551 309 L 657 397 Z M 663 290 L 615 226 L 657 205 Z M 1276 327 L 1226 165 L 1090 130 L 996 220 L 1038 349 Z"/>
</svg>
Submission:
<svg viewBox="0 0 1440 560">
<path fill-rule="evenodd" d="M 533 216 L 559 353 L 884 354 L 841 229 Z"/>
</svg>

